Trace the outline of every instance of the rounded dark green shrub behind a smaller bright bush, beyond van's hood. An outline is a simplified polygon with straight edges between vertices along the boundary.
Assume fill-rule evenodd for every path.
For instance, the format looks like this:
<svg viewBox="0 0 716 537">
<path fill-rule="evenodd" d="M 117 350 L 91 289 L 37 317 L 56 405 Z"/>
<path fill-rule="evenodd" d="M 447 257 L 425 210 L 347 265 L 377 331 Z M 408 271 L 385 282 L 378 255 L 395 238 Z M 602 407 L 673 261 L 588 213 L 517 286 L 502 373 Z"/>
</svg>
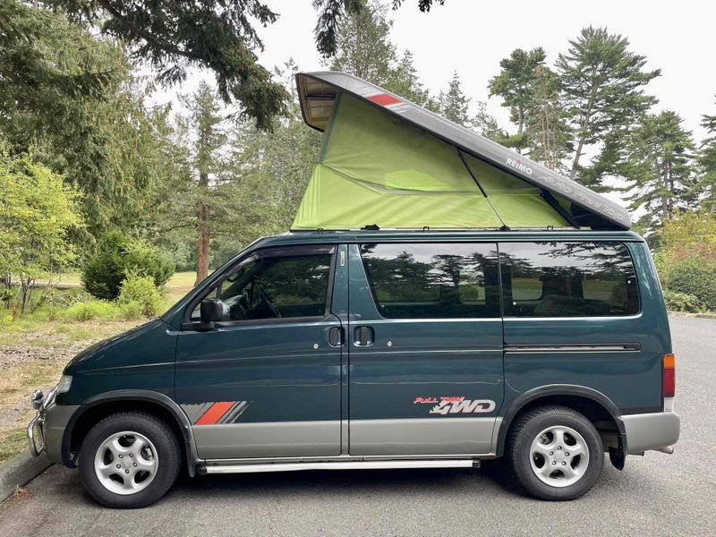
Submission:
<svg viewBox="0 0 716 537">
<path fill-rule="evenodd" d="M 147 243 L 109 232 L 99 241 L 95 254 L 85 262 L 82 285 L 97 298 L 114 300 L 129 272 L 151 277 L 155 286 L 163 286 L 174 274 L 174 263 Z"/>
</svg>

